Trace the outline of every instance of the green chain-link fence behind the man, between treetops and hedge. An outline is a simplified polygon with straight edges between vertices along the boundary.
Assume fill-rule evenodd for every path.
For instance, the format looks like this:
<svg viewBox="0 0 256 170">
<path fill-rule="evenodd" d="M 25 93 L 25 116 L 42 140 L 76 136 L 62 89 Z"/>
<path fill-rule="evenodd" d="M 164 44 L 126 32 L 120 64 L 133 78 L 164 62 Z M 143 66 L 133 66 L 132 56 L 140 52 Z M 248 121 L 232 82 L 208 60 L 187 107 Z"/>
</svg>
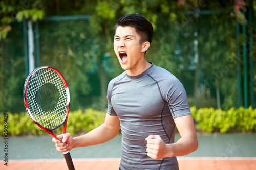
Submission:
<svg viewBox="0 0 256 170">
<path fill-rule="evenodd" d="M 169 70 L 183 83 L 190 106 L 239 107 L 244 104 L 244 66 L 236 42 L 242 44 L 242 31 L 236 32 L 237 26 L 234 18 L 222 20 L 212 14 L 180 22 L 159 19 L 147 61 Z M 49 65 L 63 74 L 70 89 L 71 110 L 105 110 L 108 82 L 123 71 L 112 44 L 108 43 L 108 38 L 113 41 L 114 33 L 92 34 L 89 16 L 48 17 L 33 23 L 33 28 L 34 66 Z M 29 73 L 27 31 L 26 21 L 12 23 L 12 31 L 0 43 L 0 112 L 25 111 L 23 85 Z M 255 91 L 255 86 L 252 88 Z M 253 93 L 248 93 L 248 99 L 254 99 Z"/>
</svg>

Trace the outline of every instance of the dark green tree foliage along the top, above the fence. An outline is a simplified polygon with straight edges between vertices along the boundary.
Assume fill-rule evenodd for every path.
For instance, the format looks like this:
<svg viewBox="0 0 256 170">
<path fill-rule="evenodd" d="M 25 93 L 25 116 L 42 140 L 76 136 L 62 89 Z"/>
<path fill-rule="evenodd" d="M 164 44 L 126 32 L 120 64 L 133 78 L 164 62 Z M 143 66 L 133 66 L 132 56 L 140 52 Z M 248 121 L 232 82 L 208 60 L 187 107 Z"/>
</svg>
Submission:
<svg viewBox="0 0 256 170">
<path fill-rule="evenodd" d="M 139 13 L 148 18 L 156 28 L 156 21 L 162 15 L 167 16 L 170 21 L 175 21 L 181 11 L 195 12 L 194 9 L 200 10 L 231 10 L 240 22 L 245 23 L 245 16 L 241 9 L 246 11 L 246 6 L 255 8 L 251 1 L 210 1 L 210 0 L 143 0 L 143 1 L 47 1 L 47 0 L 5 0 L 0 3 L 1 27 L 0 38 L 6 38 L 7 33 L 11 30 L 10 23 L 17 19 L 31 19 L 36 21 L 44 16 L 57 15 L 79 15 L 90 14 L 97 16 L 94 18 L 94 26 L 100 26 L 103 22 L 106 25 L 113 24 L 116 19 L 129 13 Z M 101 24 L 100 24 L 101 23 Z M 113 25 L 111 25 L 113 26 Z M 92 26 L 93 27 L 93 26 Z M 94 27 L 95 28 L 95 27 Z M 96 31 L 103 31 L 104 27 L 97 27 Z M 0 39 L 1 40 L 1 39 Z"/>
</svg>

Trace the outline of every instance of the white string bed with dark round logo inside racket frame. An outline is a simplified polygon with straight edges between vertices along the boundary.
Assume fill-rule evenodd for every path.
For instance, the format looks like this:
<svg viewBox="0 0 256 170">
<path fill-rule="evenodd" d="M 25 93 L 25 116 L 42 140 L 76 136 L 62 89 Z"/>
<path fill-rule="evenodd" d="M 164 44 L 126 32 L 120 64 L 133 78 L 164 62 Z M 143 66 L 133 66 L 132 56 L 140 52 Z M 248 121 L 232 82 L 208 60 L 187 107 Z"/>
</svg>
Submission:
<svg viewBox="0 0 256 170">
<path fill-rule="evenodd" d="M 52 69 L 40 69 L 31 77 L 27 100 L 32 116 L 42 126 L 60 125 L 67 109 L 67 93 L 62 79 Z"/>
</svg>

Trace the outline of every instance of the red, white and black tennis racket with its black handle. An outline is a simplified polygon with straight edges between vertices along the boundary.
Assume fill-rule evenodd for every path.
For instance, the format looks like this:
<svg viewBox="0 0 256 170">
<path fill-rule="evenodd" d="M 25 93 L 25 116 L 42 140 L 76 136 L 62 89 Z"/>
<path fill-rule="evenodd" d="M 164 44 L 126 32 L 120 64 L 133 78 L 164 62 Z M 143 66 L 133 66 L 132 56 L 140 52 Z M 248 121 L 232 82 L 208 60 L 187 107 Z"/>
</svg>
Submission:
<svg viewBox="0 0 256 170">
<path fill-rule="evenodd" d="M 39 128 L 59 140 L 53 130 L 63 125 L 62 135 L 66 134 L 70 95 L 58 70 L 49 66 L 34 69 L 25 81 L 23 98 L 30 118 Z M 68 168 L 75 169 L 69 151 L 63 154 Z"/>
</svg>

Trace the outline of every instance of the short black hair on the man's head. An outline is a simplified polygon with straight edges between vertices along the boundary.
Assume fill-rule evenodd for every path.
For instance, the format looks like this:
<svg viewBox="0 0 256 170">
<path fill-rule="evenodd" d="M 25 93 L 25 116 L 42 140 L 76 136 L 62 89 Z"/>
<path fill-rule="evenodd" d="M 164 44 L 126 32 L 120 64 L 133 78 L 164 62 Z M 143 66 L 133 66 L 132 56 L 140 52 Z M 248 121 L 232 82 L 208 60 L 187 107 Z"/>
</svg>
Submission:
<svg viewBox="0 0 256 170">
<path fill-rule="evenodd" d="M 122 16 L 118 19 L 115 26 L 115 33 L 118 26 L 126 27 L 131 26 L 136 29 L 136 32 L 140 34 L 140 42 L 152 42 L 153 39 L 153 26 L 146 18 L 139 14 L 129 14 Z"/>
</svg>

